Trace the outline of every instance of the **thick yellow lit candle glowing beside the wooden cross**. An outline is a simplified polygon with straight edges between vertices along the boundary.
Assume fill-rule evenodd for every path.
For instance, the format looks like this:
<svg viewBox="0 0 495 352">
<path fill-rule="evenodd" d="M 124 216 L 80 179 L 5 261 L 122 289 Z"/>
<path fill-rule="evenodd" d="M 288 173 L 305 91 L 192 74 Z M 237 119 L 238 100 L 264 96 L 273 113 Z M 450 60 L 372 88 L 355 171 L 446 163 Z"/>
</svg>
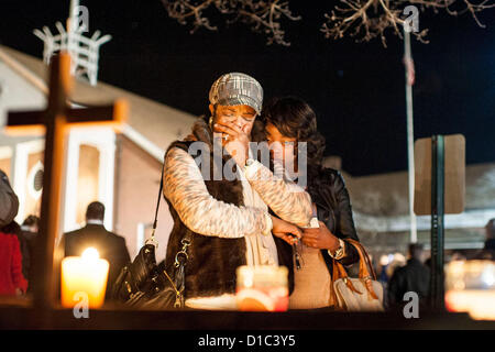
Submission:
<svg viewBox="0 0 495 352">
<path fill-rule="evenodd" d="M 72 308 L 81 295 L 88 297 L 88 307 L 103 305 L 109 263 L 89 248 L 81 256 L 67 256 L 62 261 L 62 306 Z"/>
</svg>

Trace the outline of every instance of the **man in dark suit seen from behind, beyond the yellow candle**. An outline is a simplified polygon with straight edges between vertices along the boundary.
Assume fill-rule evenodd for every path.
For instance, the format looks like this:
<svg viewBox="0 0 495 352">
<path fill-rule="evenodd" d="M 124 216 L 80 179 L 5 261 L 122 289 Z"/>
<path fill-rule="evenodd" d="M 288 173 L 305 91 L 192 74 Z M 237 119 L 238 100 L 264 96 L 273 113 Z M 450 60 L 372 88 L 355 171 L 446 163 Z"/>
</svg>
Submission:
<svg viewBox="0 0 495 352">
<path fill-rule="evenodd" d="M 65 233 L 61 241 L 64 256 L 80 256 L 87 248 L 98 250 L 100 257 L 110 263 L 107 284 L 107 299 L 111 294 L 112 285 L 122 267 L 130 262 L 125 239 L 107 231 L 103 226 L 105 206 L 94 201 L 86 210 L 86 227 L 80 230 Z"/>
</svg>

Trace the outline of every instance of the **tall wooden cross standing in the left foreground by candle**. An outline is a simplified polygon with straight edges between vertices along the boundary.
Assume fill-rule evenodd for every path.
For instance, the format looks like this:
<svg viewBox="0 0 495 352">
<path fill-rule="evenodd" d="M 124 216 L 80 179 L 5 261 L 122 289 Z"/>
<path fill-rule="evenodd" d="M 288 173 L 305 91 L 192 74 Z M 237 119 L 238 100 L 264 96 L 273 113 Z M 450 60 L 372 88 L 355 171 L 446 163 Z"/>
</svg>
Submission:
<svg viewBox="0 0 495 352">
<path fill-rule="evenodd" d="M 48 106 L 44 111 L 10 112 L 7 132 L 25 134 L 25 130 L 45 130 L 45 156 L 40 233 L 35 253 L 34 305 L 51 309 L 55 302 L 54 246 L 61 223 L 61 195 L 65 139 L 70 127 L 121 125 L 127 118 L 125 100 L 88 109 L 72 108 L 67 99 L 73 88 L 70 56 L 52 57 Z"/>
</svg>

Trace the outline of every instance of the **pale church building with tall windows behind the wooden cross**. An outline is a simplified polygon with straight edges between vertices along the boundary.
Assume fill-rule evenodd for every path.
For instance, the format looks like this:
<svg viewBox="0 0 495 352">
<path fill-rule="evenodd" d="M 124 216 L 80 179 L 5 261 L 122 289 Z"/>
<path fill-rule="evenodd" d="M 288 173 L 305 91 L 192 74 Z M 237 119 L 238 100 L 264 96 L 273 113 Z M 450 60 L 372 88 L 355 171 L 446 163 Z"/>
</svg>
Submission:
<svg viewBox="0 0 495 352">
<path fill-rule="evenodd" d="M 8 111 L 42 110 L 46 106 L 48 67 L 42 59 L 0 46 L 0 123 Z M 163 156 L 167 145 L 189 133 L 196 117 L 98 82 L 75 80 L 72 99 L 105 105 L 124 98 L 130 113 L 122 134 L 107 128 L 75 128 L 66 145 L 63 229 L 84 224 L 86 207 L 106 205 L 106 227 L 127 239 L 135 255 L 153 221 Z M 22 222 L 41 209 L 44 139 L 0 133 L 0 168 L 10 177 L 20 199 Z M 160 212 L 157 256 L 165 256 L 172 218 L 164 202 Z"/>
</svg>

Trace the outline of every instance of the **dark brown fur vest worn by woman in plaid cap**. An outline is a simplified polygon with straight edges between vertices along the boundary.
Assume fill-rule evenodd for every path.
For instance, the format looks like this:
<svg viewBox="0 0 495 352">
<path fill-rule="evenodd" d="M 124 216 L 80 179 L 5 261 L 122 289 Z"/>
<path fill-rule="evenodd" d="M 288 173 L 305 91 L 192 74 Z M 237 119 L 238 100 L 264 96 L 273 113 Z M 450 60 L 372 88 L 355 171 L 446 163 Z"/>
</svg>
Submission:
<svg viewBox="0 0 495 352">
<path fill-rule="evenodd" d="M 201 119 L 193 127 L 193 133 L 198 141 L 205 142 L 209 148 L 209 155 L 199 154 L 198 157 L 210 158 L 210 174 L 212 176 L 216 167 L 222 167 L 231 158 L 224 155 L 222 165 L 213 164 L 212 133 L 207 123 Z M 191 142 L 176 141 L 168 147 L 179 147 L 188 152 Z M 168 151 L 167 151 L 168 152 Z M 193 155 L 196 157 L 195 155 Z M 235 167 L 235 166 L 234 166 Z M 241 180 L 205 180 L 210 195 L 227 204 L 243 206 Z M 186 265 L 186 299 L 191 297 L 219 296 L 222 294 L 235 293 L 235 270 L 240 265 L 245 265 L 245 240 L 223 239 L 207 237 L 189 230 L 180 220 L 174 207 L 167 200 L 174 219 L 174 228 L 168 239 L 165 265 L 172 268 L 175 255 L 182 249 L 180 241 L 187 232 L 191 232 L 191 244 L 188 249 L 188 262 Z"/>
</svg>

